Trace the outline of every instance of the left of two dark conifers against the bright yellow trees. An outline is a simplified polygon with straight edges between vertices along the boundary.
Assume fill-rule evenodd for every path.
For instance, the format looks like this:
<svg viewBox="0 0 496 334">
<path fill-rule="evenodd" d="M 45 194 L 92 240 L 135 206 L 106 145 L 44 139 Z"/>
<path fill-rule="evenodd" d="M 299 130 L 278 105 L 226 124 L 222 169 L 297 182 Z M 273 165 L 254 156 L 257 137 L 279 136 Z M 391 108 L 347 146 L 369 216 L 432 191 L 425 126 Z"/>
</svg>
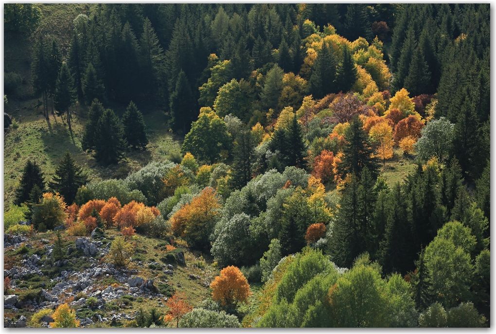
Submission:
<svg viewBox="0 0 496 334">
<path fill-rule="evenodd" d="M 327 43 L 322 43 L 309 81 L 309 91 L 314 98 L 321 99 L 329 93 L 336 93 L 337 64 L 334 52 Z"/>
</svg>

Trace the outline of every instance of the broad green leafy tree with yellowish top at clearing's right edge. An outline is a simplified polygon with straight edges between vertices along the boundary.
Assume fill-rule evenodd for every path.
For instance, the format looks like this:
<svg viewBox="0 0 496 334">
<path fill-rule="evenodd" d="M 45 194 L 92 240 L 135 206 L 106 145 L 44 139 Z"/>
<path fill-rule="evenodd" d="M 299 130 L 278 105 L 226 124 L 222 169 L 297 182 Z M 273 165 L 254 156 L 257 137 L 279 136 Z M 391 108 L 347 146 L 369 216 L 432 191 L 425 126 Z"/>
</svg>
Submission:
<svg viewBox="0 0 496 334">
<path fill-rule="evenodd" d="M 198 120 L 191 124 L 181 152 L 190 152 L 198 160 L 213 164 L 220 160 L 221 151 L 228 150 L 230 144 L 231 136 L 227 132 L 226 122 L 215 112 L 202 112 Z"/>
</svg>

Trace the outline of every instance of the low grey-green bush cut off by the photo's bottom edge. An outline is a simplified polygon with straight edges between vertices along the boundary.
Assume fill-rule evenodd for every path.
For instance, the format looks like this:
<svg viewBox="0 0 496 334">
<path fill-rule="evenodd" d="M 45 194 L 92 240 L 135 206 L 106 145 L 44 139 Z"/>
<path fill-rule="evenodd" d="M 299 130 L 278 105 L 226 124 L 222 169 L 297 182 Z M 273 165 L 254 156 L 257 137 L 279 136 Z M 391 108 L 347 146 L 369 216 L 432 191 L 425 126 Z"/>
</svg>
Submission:
<svg viewBox="0 0 496 334">
<path fill-rule="evenodd" d="M 181 328 L 239 328 L 238 317 L 229 315 L 225 311 L 216 312 L 195 308 L 186 313 L 179 321 Z"/>
</svg>

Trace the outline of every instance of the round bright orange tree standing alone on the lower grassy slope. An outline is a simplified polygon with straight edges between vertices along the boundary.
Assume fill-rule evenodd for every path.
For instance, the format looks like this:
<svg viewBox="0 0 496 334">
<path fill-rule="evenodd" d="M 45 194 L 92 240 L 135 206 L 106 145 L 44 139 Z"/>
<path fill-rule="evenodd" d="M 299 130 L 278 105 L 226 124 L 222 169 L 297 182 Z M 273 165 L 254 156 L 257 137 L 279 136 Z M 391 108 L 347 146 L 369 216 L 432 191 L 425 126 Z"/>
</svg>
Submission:
<svg viewBox="0 0 496 334">
<path fill-rule="evenodd" d="M 221 270 L 210 284 L 212 299 L 220 301 L 223 306 L 236 306 L 246 302 L 251 295 L 248 280 L 238 267 L 229 266 Z"/>
</svg>

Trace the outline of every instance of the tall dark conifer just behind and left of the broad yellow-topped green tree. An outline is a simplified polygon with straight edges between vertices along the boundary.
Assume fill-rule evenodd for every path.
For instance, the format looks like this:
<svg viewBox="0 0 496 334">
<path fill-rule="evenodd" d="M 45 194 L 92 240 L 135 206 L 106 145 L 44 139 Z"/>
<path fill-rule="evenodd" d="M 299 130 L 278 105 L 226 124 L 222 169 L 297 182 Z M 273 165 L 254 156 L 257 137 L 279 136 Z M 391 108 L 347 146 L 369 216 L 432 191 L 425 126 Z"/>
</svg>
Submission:
<svg viewBox="0 0 496 334">
<path fill-rule="evenodd" d="M 171 114 L 169 123 L 171 128 L 187 133 L 191 121 L 194 119 L 195 111 L 193 93 L 191 92 L 186 73 L 183 70 L 179 72 L 176 89 L 170 97 L 169 108 Z"/>
</svg>

